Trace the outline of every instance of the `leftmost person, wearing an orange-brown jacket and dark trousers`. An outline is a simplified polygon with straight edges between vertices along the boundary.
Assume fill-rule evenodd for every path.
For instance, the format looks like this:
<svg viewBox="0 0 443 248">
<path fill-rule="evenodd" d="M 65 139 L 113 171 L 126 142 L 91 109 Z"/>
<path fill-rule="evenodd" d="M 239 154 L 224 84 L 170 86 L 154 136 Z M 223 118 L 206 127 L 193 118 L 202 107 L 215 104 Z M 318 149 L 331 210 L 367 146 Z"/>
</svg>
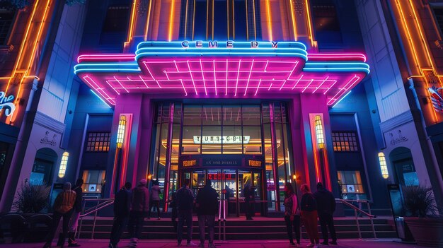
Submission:
<svg viewBox="0 0 443 248">
<path fill-rule="evenodd" d="M 71 219 L 72 208 L 76 200 L 76 192 L 71 190 L 71 183 L 63 184 L 63 191 L 58 194 L 54 201 L 54 215 L 52 215 L 52 227 L 47 235 L 47 240 L 43 248 L 50 248 L 54 240 L 55 231 L 59 227 L 60 219 L 63 217 L 63 232 L 60 237 L 60 247 L 64 247 L 64 239 L 68 234 L 69 220 Z"/>
</svg>

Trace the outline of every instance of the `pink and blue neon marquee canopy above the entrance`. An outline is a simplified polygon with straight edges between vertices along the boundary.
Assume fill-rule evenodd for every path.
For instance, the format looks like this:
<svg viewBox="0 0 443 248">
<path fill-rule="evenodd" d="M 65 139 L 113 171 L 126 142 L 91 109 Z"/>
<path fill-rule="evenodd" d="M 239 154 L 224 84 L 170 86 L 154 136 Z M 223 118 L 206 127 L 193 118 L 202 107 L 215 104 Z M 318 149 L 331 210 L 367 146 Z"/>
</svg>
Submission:
<svg viewBox="0 0 443 248">
<path fill-rule="evenodd" d="M 122 93 L 183 98 L 323 94 L 328 105 L 369 73 L 364 54 L 309 53 L 301 42 L 140 42 L 134 54 L 83 54 L 74 72 L 115 105 Z"/>
</svg>

